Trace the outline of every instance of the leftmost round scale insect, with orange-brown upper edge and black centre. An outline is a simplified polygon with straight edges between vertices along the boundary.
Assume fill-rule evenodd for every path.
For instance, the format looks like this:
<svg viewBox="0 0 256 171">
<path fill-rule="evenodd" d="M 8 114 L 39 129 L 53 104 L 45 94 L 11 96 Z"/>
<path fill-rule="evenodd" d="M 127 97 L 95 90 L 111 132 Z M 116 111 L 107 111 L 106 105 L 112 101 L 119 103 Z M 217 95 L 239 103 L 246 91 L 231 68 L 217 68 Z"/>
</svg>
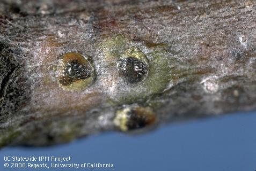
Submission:
<svg viewBox="0 0 256 171">
<path fill-rule="evenodd" d="M 57 79 L 65 90 L 82 90 L 94 80 L 94 69 L 79 53 L 65 53 L 58 63 Z"/>
</svg>

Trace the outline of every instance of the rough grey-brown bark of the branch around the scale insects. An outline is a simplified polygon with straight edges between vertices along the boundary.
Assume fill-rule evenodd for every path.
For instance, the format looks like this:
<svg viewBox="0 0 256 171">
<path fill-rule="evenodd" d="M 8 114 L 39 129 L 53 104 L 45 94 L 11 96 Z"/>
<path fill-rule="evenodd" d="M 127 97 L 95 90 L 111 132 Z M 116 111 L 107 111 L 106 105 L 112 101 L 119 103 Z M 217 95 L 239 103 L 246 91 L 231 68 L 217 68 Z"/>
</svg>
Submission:
<svg viewBox="0 0 256 171">
<path fill-rule="evenodd" d="M 94 67 L 83 90 L 58 84 L 69 52 Z M 147 58 L 144 80 L 122 79 L 124 55 Z M 155 112 L 142 131 L 255 110 L 255 1 L 0 1 L 0 146 L 125 130 L 116 111 L 133 106 Z"/>
</svg>

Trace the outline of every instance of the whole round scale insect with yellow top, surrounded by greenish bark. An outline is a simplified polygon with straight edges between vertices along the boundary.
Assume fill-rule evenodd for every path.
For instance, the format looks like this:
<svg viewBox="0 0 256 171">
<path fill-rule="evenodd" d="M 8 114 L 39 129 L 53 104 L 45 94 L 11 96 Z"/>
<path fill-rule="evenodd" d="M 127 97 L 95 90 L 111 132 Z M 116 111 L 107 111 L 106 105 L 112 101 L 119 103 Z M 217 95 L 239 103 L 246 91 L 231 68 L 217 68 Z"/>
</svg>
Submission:
<svg viewBox="0 0 256 171">
<path fill-rule="evenodd" d="M 149 71 L 149 61 L 145 55 L 135 47 L 122 54 L 118 61 L 119 75 L 128 83 L 143 81 Z"/>
</svg>

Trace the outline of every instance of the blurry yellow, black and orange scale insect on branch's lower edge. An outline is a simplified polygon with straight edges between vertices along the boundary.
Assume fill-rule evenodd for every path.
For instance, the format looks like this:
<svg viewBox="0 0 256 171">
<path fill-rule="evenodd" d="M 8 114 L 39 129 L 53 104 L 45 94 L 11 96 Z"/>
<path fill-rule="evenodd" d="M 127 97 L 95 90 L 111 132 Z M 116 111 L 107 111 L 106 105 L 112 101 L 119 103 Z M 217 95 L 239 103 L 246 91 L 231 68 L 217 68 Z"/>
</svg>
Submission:
<svg viewBox="0 0 256 171">
<path fill-rule="evenodd" d="M 128 106 L 116 111 L 114 125 L 122 131 L 144 128 L 156 122 L 156 114 L 150 107 Z"/>
</svg>

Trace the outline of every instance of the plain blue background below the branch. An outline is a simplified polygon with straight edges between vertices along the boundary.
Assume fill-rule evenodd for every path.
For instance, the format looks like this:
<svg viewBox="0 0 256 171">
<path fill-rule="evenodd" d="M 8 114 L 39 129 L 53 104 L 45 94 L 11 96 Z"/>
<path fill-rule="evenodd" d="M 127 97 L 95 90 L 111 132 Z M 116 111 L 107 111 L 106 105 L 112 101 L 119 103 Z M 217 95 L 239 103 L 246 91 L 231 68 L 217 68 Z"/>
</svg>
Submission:
<svg viewBox="0 0 256 171">
<path fill-rule="evenodd" d="M 11 169 L 4 156 L 70 156 L 114 168 Z M 50 165 L 50 162 L 48 162 Z M 105 133 L 51 147 L 5 147 L 0 170 L 256 170 L 256 112 L 162 126 L 143 135 Z"/>
</svg>

